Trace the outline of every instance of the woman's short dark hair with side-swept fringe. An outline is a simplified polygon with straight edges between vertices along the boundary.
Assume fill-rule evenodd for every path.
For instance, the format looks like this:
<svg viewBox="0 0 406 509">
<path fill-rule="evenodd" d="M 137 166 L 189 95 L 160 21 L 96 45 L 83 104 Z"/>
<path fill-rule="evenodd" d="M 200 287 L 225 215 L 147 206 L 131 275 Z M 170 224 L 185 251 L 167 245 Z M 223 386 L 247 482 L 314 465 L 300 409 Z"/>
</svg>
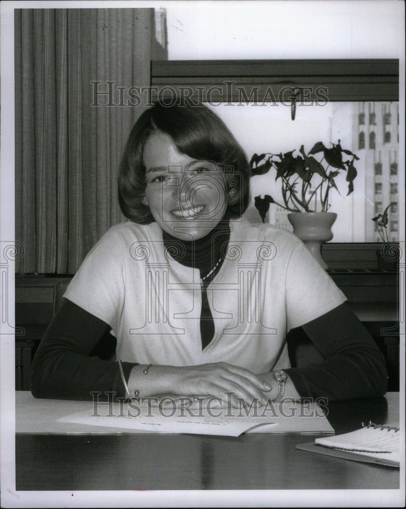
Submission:
<svg viewBox="0 0 406 509">
<path fill-rule="evenodd" d="M 165 106 L 159 102 L 143 112 L 124 149 L 119 166 L 119 203 L 123 214 L 139 224 L 154 221 L 143 203 L 146 167 L 143 150 L 155 131 L 167 134 L 178 151 L 193 159 L 212 161 L 226 168 L 228 217 L 240 217 L 250 201 L 250 166 L 243 149 L 224 122 L 205 105 Z M 236 178 L 231 178 L 232 174 Z"/>
</svg>

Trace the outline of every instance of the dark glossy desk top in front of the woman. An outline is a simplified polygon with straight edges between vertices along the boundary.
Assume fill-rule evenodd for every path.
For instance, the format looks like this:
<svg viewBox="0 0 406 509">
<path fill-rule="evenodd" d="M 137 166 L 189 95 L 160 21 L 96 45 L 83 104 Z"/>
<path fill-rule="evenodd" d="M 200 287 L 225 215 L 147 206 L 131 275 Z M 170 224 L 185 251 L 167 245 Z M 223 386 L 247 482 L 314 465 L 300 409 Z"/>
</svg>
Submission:
<svg viewBox="0 0 406 509">
<path fill-rule="evenodd" d="M 399 395 L 331 403 L 328 418 L 337 433 L 358 429 L 366 420 L 398 421 Z M 399 469 L 296 449 L 316 436 L 17 433 L 16 489 L 399 488 Z"/>
</svg>

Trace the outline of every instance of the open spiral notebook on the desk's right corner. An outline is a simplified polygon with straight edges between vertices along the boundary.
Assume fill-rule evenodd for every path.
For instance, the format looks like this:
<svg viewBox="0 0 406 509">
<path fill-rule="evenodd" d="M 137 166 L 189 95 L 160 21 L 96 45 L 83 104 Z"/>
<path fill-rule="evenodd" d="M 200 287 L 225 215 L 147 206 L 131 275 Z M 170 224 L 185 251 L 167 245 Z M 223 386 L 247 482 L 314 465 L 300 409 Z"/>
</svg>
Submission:
<svg viewBox="0 0 406 509">
<path fill-rule="evenodd" d="M 400 431 L 397 425 L 376 425 L 369 422 L 360 430 L 344 435 L 316 438 L 314 443 L 296 447 L 312 453 L 353 461 L 392 467 L 399 467 L 400 464 Z"/>
</svg>

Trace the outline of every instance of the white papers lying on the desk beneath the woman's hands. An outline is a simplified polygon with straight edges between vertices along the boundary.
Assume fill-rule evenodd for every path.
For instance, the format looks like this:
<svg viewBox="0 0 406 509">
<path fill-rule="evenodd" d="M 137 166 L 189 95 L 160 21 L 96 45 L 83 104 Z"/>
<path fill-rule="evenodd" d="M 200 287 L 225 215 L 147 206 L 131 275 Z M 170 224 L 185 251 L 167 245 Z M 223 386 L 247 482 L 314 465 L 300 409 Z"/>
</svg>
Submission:
<svg viewBox="0 0 406 509">
<path fill-rule="evenodd" d="M 200 402 L 201 403 L 201 402 Z M 59 422 L 134 432 L 192 433 L 237 437 L 242 433 L 326 433 L 333 432 L 316 403 L 284 402 L 281 405 L 250 408 L 211 408 L 204 404 L 156 405 L 112 403 L 66 415 Z"/>
</svg>

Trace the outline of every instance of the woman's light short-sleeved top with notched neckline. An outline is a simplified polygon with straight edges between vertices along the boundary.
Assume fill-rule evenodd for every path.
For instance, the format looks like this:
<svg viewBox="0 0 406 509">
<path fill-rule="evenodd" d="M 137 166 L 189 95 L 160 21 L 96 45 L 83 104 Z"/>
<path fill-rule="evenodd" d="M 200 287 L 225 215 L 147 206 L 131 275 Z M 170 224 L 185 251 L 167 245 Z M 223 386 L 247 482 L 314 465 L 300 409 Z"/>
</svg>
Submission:
<svg viewBox="0 0 406 509">
<path fill-rule="evenodd" d="M 110 228 L 64 297 L 110 325 L 123 361 L 224 361 L 254 373 L 290 367 L 286 333 L 346 298 L 295 235 L 244 219 L 230 227 L 227 256 L 207 290 L 215 333 L 203 351 L 199 271 L 171 259 L 156 223 Z"/>
</svg>

